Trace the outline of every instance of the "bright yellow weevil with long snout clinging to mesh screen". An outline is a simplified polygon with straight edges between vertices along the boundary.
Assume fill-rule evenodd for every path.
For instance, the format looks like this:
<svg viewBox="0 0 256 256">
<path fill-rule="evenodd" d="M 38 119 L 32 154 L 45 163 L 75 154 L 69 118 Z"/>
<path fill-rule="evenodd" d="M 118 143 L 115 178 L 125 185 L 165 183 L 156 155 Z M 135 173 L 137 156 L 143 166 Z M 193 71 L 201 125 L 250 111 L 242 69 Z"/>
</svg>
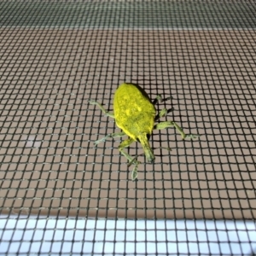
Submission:
<svg viewBox="0 0 256 256">
<path fill-rule="evenodd" d="M 160 101 L 161 96 L 157 96 L 154 102 Z M 141 164 L 141 162 L 137 160 L 137 157 L 132 157 L 124 151 L 131 143 L 141 143 L 146 160 L 149 163 L 153 163 L 154 153 L 152 148 L 150 148 L 148 139 L 154 129 L 161 130 L 168 127 L 175 127 L 183 139 L 200 137 L 196 134 L 185 134 L 183 129 L 173 121 L 164 121 L 155 124 L 155 121 L 166 115 L 167 109 L 162 109 L 160 113 L 156 115 L 154 103 L 150 101 L 145 90 L 137 84 L 124 83 L 119 85 L 113 97 L 113 113 L 109 113 L 99 102 L 92 100 L 89 102 L 101 108 L 102 112 L 107 116 L 115 119 L 116 125 L 121 129 L 121 132 L 108 134 L 106 137 L 102 137 L 102 139 L 96 141 L 95 144 L 104 142 L 108 137 L 128 136 L 128 139 L 120 143 L 119 151 L 129 160 L 129 166 L 132 164 L 135 165 L 131 173 L 131 179 L 133 181 L 137 179 L 137 166 Z"/>
</svg>

